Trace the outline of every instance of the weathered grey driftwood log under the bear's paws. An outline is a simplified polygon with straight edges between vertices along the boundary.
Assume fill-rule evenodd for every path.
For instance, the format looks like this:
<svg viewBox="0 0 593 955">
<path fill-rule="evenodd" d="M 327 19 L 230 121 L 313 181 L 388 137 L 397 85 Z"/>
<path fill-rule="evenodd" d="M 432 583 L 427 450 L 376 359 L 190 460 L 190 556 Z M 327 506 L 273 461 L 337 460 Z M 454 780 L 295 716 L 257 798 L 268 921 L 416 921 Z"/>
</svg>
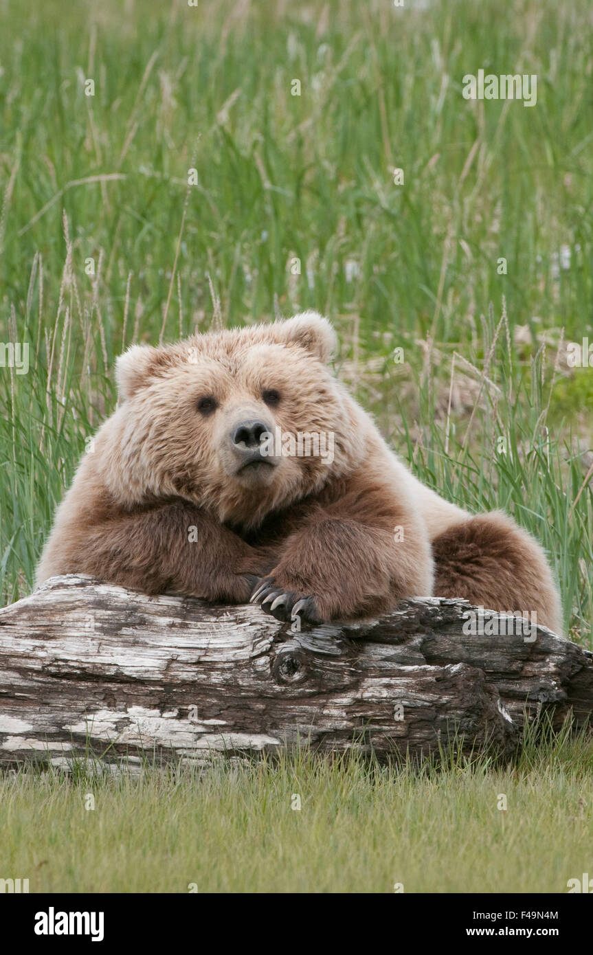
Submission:
<svg viewBox="0 0 593 955">
<path fill-rule="evenodd" d="M 297 742 L 509 755 L 525 714 L 590 720 L 592 653 L 544 627 L 465 633 L 467 611 L 416 599 L 372 623 L 292 632 L 258 606 L 56 577 L 0 610 L 0 762 L 93 754 L 133 767 Z"/>
</svg>

